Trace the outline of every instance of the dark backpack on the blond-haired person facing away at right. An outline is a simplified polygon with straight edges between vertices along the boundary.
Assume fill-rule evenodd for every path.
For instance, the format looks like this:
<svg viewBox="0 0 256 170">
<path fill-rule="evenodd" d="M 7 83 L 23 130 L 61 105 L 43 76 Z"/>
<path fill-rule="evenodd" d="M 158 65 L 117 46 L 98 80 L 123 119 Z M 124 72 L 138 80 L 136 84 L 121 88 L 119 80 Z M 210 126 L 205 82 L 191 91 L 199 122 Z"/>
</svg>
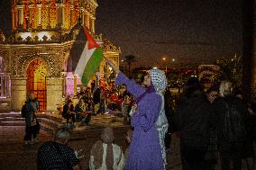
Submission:
<svg viewBox="0 0 256 170">
<path fill-rule="evenodd" d="M 231 105 L 224 104 L 226 107 L 226 112 L 224 113 L 224 141 L 242 141 L 245 137 L 245 125 L 242 113 L 237 110 L 237 107 L 233 103 Z"/>
</svg>

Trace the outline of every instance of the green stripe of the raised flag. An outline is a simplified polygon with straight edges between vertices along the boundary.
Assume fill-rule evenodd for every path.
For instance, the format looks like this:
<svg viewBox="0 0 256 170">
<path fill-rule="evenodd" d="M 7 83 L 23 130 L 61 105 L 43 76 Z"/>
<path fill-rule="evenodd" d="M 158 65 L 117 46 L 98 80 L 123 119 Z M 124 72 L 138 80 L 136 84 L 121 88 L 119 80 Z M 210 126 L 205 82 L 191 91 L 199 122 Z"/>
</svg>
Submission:
<svg viewBox="0 0 256 170">
<path fill-rule="evenodd" d="M 93 78 L 96 73 L 96 69 L 99 67 L 102 58 L 104 58 L 103 51 L 101 48 L 95 49 L 93 55 L 89 58 L 87 66 L 85 67 L 82 83 L 87 86 L 89 81 Z"/>
</svg>

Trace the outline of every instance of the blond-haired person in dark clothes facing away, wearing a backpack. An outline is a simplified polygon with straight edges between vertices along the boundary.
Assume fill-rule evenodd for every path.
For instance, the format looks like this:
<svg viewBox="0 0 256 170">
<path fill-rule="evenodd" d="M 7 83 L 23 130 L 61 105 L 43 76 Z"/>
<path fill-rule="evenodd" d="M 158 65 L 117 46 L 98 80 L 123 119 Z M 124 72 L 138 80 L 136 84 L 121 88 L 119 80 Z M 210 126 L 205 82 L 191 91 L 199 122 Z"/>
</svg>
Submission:
<svg viewBox="0 0 256 170">
<path fill-rule="evenodd" d="M 231 169 L 230 163 L 232 163 L 234 170 L 241 170 L 247 107 L 241 99 L 233 96 L 231 82 L 221 82 L 219 93 L 220 96 L 214 103 L 215 117 L 213 118 L 215 118 L 221 169 Z"/>
</svg>

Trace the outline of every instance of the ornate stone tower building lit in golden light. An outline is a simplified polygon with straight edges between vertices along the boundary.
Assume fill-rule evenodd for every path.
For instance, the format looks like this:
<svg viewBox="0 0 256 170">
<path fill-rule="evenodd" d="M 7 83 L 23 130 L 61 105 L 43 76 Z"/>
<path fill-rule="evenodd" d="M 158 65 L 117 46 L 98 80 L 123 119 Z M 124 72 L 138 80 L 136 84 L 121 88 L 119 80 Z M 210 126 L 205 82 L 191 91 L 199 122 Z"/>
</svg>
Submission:
<svg viewBox="0 0 256 170">
<path fill-rule="evenodd" d="M 41 111 L 56 111 L 81 85 L 69 67 L 78 23 L 101 44 L 106 58 L 118 66 L 120 48 L 95 34 L 96 0 L 10 0 L 11 33 L 0 32 L 0 110 L 20 111 L 35 94 Z M 101 76 L 109 75 L 103 61 Z"/>
</svg>

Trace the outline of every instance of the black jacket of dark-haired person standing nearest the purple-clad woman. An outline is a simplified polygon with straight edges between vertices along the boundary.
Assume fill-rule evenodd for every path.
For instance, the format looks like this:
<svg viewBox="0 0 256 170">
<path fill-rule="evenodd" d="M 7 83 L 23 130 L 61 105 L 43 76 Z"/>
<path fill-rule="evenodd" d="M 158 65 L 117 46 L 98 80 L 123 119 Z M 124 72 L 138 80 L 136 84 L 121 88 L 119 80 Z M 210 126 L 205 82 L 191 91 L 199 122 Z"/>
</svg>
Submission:
<svg viewBox="0 0 256 170">
<path fill-rule="evenodd" d="M 205 95 L 189 97 L 178 104 L 174 116 L 176 128 L 180 132 L 181 146 L 206 148 L 211 126 L 211 103 Z"/>
</svg>

